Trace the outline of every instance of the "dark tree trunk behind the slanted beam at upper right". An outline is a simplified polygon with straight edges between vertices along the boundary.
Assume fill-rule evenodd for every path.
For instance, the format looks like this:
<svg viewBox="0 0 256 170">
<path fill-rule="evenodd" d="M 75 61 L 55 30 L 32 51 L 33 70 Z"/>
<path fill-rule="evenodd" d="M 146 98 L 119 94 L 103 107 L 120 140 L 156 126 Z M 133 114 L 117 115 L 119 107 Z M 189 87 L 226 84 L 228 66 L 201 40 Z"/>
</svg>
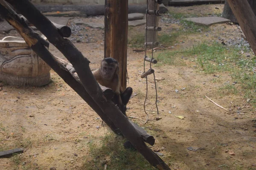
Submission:
<svg viewBox="0 0 256 170">
<path fill-rule="evenodd" d="M 247 1 L 250 4 L 250 7 L 252 8 L 254 15 L 256 15 L 256 1 L 255 0 L 247 0 Z M 227 1 L 225 2 L 225 5 L 224 5 L 222 17 L 229 19 L 233 23 L 238 23 Z"/>
</svg>

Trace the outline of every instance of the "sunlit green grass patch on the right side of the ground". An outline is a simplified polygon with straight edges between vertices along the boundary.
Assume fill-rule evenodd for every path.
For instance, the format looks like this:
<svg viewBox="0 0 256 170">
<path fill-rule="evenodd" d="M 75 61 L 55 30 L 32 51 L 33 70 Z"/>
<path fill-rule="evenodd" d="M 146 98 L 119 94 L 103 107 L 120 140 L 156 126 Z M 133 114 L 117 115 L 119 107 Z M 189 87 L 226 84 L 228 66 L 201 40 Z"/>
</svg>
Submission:
<svg viewBox="0 0 256 170">
<path fill-rule="evenodd" d="M 219 89 L 220 94 L 238 94 L 241 92 L 250 102 L 256 103 L 256 74 L 253 68 L 256 65 L 256 57 L 248 58 L 241 54 L 244 47 L 237 48 L 220 43 L 201 43 L 192 48 L 180 51 L 163 51 L 158 53 L 156 59 L 160 65 L 185 65 L 183 58 L 190 60 L 191 66 L 203 74 L 227 73 L 233 78 L 233 82 L 223 85 Z M 253 55 L 253 54 L 252 54 Z M 157 63 L 158 64 L 158 63 Z M 216 79 L 212 80 L 216 82 Z"/>
</svg>

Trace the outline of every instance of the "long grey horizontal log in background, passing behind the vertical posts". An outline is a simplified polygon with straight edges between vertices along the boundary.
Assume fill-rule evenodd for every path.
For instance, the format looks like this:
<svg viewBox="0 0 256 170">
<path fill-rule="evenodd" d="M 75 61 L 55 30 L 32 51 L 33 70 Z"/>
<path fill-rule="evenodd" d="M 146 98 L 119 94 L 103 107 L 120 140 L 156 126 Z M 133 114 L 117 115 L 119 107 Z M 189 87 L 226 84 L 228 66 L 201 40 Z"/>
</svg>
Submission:
<svg viewBox="0 0 256 170">
<path fill-rule="evenodd" d="M 80 11 L 87 16 L 105 15 L 105 5 L 47 5 L 47 4 L 35 4 L 41 12 L 52 11 Z M 128 14 L 131 13 L 146 13 L 146 5 L 129 5 Z M 159 7 L 160 14 L 168 12 L 168 9 L 163 4 Z"/>
</svg>

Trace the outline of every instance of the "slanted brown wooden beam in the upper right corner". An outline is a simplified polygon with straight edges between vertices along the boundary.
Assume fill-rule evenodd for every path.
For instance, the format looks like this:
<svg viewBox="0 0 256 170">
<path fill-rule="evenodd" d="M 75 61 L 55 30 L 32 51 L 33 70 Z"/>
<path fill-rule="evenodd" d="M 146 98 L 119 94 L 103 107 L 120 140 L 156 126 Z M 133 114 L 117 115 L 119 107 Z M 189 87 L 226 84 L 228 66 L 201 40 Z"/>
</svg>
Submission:
<svg viewBox="0 0 256 170">
<path fill-rule="evenodd" d="M 247 0 L 227 0 L 244 35 L 256 54 L 256 16 Z"/>
</svg>

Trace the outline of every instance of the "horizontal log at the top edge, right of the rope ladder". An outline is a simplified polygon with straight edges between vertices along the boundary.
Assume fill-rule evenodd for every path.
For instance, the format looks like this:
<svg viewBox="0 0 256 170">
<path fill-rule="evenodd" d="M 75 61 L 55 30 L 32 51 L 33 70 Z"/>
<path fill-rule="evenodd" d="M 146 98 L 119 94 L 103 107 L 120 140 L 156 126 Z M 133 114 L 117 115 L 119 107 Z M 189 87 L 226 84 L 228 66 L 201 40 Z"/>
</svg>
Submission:
<svg viewBox="0 0 256 170">
<path fill-rule="evenodd" d="M 192 6 L 209 3 L 225 3 L 225 0 L 169 0 L 169 6 Z"/>
</svg>

